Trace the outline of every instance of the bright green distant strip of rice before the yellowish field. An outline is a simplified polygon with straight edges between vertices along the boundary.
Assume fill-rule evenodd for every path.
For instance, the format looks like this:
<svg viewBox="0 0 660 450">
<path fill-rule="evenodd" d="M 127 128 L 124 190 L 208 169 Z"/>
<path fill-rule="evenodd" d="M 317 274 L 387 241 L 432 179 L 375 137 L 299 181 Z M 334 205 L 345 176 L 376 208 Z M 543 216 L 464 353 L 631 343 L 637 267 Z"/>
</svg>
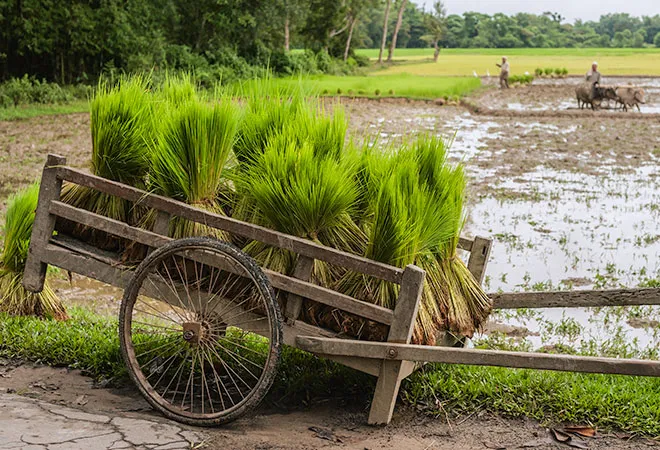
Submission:
<svg viewBox="0 0 660 450">
<path fill-rule="evenodd" d="M 361 97 L 438 98 L 465 95 L 481 86 L 481 81 L 465 77 L 420 77 L 408 74 L 366 76 L 320 75 L 273 80 L 290 89 L 302 85 L 308 92 L 321 95 L 355 95 Z"/>
</svg>

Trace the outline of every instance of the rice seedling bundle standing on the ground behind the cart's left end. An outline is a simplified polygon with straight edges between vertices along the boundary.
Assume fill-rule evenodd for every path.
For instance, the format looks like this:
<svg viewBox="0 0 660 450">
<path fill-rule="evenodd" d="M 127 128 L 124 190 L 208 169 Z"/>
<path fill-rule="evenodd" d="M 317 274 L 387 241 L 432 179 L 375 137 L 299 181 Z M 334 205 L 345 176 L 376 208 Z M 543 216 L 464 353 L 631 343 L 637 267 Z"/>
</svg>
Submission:
<svg viewBox="0 0 660 450">
<path fill-rule="evenodd" d="M 38 197 L 39 185 L 34 184 L 9 198 L 0 258 L 0 311 L 66 320 L 64 305 L 48 282 L 38 294 L 26 290 L 22 284 Z"/>
</svg>

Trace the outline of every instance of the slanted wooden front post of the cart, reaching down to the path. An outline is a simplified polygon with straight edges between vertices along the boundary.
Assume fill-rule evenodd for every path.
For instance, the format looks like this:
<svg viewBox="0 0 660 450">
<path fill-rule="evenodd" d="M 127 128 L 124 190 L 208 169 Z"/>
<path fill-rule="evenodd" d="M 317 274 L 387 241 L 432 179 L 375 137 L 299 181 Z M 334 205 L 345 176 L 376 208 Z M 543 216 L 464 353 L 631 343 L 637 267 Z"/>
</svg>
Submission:
<svg viewBox="0 0 660 450">
<path fill-rule="evenodd" d="M 394 308 L 394 320 L 387 336 L 387 342 L 399 344 L 410 343 L 419 301 L 422 298 L 426 272 L 417 266 L 408 266 L 403 272 L 401 291 Z M 396 354 L 388 355 L 395 358 Z M 369 424 L 388 424 L 392 420 L 392 412 L 399 394 L 401 380 L 409 373 L 409 361 L 383 360 L 376 383 L 376 391 L 371 402 Z"/>
</svg>

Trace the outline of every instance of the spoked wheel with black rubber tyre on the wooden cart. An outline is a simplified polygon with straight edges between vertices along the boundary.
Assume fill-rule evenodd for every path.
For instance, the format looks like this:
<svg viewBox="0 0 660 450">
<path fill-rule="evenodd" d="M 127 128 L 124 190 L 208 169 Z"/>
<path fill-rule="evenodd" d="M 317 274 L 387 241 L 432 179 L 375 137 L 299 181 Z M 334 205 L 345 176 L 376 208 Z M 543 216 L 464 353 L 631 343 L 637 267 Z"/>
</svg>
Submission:
<svg viewBox="0 0 660 450">
<path fill-rule="evenodd" d="M 281 313 L 252 258 L 210 238 L 172 241 L 138 266 L 119 313 L 131 379 L 167 417 L 234 420 L 266 395 L 282 345 Z"/>
</svg>

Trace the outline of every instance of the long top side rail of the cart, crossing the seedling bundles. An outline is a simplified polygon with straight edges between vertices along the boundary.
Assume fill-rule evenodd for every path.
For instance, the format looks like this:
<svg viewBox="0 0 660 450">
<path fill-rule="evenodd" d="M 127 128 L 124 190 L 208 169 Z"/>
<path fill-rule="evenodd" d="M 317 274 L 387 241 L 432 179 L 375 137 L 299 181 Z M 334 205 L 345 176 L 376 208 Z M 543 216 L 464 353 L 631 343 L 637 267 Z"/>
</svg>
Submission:
<svg viewBox="0 0 660 450">
<path fill-rule="evenodd" d="M 231 217 L 210 213 L 171 198 L 147 193 L 115 181 L 90 175 L 69 167 L 58 168 L 58 176 L 81 186 L 87 186 L 110 195 L 135 202 L 136 205 L 165 211 L 173 216 L 203 223 L 213 228 L 290 250 L 309 258 L 320 259 L 376 278 L 401 283 L 403 270 L 367 258 L 325 247 L 306 239 L 289 236 Z"/>
</svg>

